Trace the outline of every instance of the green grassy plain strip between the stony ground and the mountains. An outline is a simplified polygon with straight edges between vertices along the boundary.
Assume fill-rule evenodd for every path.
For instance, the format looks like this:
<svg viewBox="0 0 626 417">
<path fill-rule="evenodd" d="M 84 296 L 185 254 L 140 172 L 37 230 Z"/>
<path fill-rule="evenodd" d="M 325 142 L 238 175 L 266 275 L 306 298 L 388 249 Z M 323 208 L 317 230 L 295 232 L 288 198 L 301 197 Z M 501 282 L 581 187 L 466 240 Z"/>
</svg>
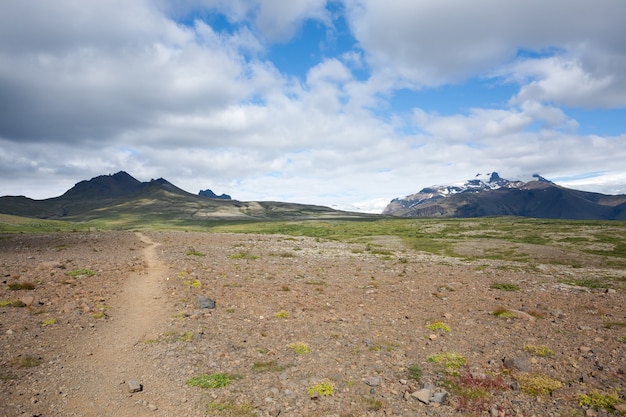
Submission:
<svg viewBox="0 0 626 417">
<path fill-rule="evenodd" d="M 96 230 L 184 230 L 306 236 L 388 249 L 389 239 L 405 248 L 465 259 L 576 266 L 626 266 L 626 222 L 531 218 L 225 221 L 180 220 L 158 215 L 115 217 L 88 222 L 32 219 L 0 214 L 0 233 L 84 232 Z M 380 239 L 384 245 L 377 245 Z M 381 253 L 382 254 L 382 253 Z M 392 255 L 386 252 L 387 255 Z"/>
</svg>

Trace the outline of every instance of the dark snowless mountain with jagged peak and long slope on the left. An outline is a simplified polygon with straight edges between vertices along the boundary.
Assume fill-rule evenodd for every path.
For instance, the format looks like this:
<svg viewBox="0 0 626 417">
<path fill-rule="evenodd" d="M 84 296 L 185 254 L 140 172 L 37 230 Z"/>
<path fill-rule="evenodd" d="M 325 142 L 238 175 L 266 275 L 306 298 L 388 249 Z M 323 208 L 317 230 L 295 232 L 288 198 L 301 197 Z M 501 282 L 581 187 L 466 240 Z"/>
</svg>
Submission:
<svg viewBox="0 0 626 417">
<path fill-rule="evenodd" d="M 209 193 L 210 192 L 210 193 Z M 159 178 L 141 182 L 120 171 L 77 183 L 63 195 L 44 200 L 0 197 L 0 213 L 50 220 L 141 221 L 269 220 L 368 217 L 328 207 L 271 201 L 242 202 L 210 190 L 189 193 Z M 117 219 L 117 220 L 116 220 Z"/>
</svg>

